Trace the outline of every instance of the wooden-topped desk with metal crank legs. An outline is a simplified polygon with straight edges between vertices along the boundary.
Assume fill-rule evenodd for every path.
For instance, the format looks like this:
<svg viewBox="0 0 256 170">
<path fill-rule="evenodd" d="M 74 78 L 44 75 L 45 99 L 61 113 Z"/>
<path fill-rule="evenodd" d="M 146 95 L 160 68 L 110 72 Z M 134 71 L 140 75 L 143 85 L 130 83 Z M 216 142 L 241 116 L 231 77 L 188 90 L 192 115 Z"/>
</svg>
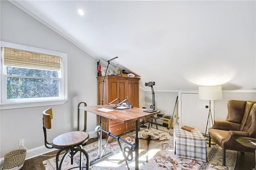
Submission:
<svg viewBox="0 0 256 170">
<path fill-rule="evenodd" d="M 146 118 L 149 116 L 153 116 L 157 113 L 160 113 L 160 111 L 156 111 L 153 113 L 144 112 L 145 109 L 140 108 L 130 108 L 130 109 L 113 109 L 116 107 L 116 105 L 96 105 L 96 106 L 87 106 L 87 107 L 79 107 L 80 109 L 84 109 L 85 111 L 88 111 L 90 113 L 94 113 L 96 115 L 99 115 L 99 125 L 98 125 L 98 142 L 99 142 L 99 158 L 98 161 L 102 159 L 102 131 L 106 132 L 105 130 L 101 129 L 101 117 L 105 117 L 108 119 L 113 119 L 115 121 L 121 122 L 121 123 L 128 123 L 131 121 L 136 121 L 136 137 L 135 137 L 135 170 L 139 169 L 139 138 L 138 138 L 138 123 L 140 119 Z M 106 109 L 112 109 L 114 111 L 111 112 L 103 112 L 99 111 L 98 109 L 106 108 Z M 114 136 L 112 134 L 108 135 L 111 137 Z M 115 136 L 118 137 L 118 136 Z M 123 140 L 122 140 L 123 141 Z M 124 141 L 123 141 L 124 142 Z M 96 163 L 98 161 L 94 161 L 93 163 Z M 128 164 L 126 163 L 128 166 Z M 129 169 L 129 167 L 127 167 Z"/>
</svg>

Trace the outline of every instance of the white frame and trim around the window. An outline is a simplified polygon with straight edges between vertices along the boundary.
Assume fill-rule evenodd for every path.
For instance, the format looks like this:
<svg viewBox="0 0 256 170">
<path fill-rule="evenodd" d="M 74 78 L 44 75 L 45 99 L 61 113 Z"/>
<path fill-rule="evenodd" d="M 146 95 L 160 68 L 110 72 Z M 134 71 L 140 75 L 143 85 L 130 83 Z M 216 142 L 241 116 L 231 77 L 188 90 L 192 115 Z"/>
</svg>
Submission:
<svg viewBox="0 0 256 170">
<path fill-rule="evenodd" d="M 32 51 L 35 53 L 43 53 L 48 55 L 55 55 L 62 58 L 62 67 L 61 67 L 61 78 L 60 78 L 60 97 L 50 97 L 50 98 L 32 98 L 32 99 L 4 99 L 6 94 L 6 75 L 4 75 L 4 66 L 3 56 L 1 51 L 1 69 L 0 69 L 0 110 L 3 109 L 14 109 L 22 107 L 36 107 L 36 106 L 46 106 L 46 105 L 61 105 L 68 100 L 68 83 L 67 83 L 67 54 L 57 51 L 50 51 L 46 49 L 40 49 L 36 47 L 29 47 L 26 45 L 19 45 L 15 43 L 3 42 L 0 41 L 0 47 L 9 47 L 14 49 L 20 49 L 25 51 Z M 22 76 L 20 76 L 22 77 Z"/>
</svg>

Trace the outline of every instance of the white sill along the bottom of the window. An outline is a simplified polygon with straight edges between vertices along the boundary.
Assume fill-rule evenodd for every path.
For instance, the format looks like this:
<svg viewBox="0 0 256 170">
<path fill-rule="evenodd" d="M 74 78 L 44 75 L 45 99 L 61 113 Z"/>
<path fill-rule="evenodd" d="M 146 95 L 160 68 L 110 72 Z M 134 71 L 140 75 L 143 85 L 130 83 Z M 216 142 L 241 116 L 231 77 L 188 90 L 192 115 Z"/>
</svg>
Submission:
<svg viewBox="0 0 256 170">
<path fill-rule="evenodd" d="M 0 110 L 4 110 L 4 109 L 17 109 L 17 108 L 24 108 L 24 107 L 48 106 L 48 105 L 62 105 L 66 101 L 68 101 L 68 99 L 52 100 L 52 101 L 1 103 L 0 104 Z"/>
</svg>

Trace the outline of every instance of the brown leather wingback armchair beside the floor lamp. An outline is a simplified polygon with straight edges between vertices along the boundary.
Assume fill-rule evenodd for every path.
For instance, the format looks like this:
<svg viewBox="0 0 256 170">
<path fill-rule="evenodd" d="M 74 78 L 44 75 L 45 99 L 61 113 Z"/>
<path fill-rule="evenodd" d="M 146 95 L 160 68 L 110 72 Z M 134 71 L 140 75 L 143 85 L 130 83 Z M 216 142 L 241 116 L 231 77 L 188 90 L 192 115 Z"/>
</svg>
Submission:
<svg viewBox="0 0 256 170">
<path fill-rule="evenodd" d="M 238 143 L 236 137 L 256 138 L 256 102 L 228 101 L 228 115 L 226 121 L 214 121 L 209 128 L 209 147 L 211 138 L 222 148 L 222 164 L 226 166 L 226 150 L 240 152 L 255 152 L 254 149 Z"/>
</svg>

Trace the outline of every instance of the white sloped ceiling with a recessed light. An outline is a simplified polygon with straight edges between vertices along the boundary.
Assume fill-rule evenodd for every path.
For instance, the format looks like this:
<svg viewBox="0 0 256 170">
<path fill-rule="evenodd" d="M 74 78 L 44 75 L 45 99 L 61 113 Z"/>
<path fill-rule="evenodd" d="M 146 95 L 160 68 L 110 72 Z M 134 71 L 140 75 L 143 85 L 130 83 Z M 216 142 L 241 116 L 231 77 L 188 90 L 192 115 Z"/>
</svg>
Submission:
<svg viewBox="0 0 256 170">
<path fill-rule="evenodd" d="M 146 91 L 256 89 L 255 1 L 10 2 Z"/>
</svg>

